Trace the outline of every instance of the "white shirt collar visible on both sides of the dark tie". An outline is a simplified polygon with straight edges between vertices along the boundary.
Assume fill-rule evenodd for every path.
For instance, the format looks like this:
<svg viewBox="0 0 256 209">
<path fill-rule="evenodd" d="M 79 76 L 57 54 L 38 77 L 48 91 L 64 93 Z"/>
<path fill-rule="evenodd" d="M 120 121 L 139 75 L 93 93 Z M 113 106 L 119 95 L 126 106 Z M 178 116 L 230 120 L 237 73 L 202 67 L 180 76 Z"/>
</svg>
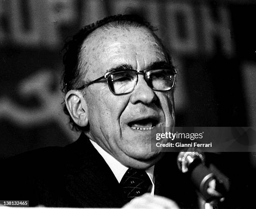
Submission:
<svg viewBox="0 0 256 209">
<path fill-rule="evenodd" d="M 102 149 L 95 141 L 92 141 L 90 139 L 90 142 L 95 147 L 95 149 L 98 151 L 98 153 L 100 153 L 100 155 L 103 157 L 103 159 L 106 161 L 106 163 L 110 167 L 111 171 L 115 175 L 115 178 L 120 183 L 125 172 L 128 170 L 128 167 L 124 166 L 118 160 L 116 160 L 112 155 L 108 154 L 108 152 L 106 152 L 104 149 Z M 151 166 L 150 168 L 146 169 L 146 173 L 148 174 L 148 176 L 151 180 L 151 183 L 153 185 L 150 194 L 154 195 L 154 189 L 155 189 L 154 166 Z"/>
</svg>

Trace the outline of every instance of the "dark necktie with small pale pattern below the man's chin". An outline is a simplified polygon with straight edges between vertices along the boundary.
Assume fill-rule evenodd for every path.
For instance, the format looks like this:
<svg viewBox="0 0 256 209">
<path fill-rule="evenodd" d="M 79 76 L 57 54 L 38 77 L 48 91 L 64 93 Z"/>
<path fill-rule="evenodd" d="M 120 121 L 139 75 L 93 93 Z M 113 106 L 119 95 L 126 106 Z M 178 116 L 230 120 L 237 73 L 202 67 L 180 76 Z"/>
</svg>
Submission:
<svg viewBox="0 0 256 209">
<path fill-rule="evenodd" d="M 149 192 L 152 186 L 151 180 L 144 170 L 129 168 L 124 174 L 120 185 L 127 201 L 136 196 Z"/>
</svg>

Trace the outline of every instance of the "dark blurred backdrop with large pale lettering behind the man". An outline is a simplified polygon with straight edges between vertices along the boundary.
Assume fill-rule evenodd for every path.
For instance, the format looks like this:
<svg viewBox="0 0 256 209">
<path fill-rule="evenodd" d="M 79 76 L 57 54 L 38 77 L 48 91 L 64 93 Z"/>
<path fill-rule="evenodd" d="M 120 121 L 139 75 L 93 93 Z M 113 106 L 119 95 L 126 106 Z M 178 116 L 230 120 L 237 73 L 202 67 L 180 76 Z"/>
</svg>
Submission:
<svg viewBox="0 0 256 209">
<path fill-rule="evenodd" d="M 256 2 L 0 0 L 0 159 L 77 139 L 63 112 L 64 40 L 108 15 L 143 16 L 177 67 L 177 126 L 256 126 Z"/>
</svg>

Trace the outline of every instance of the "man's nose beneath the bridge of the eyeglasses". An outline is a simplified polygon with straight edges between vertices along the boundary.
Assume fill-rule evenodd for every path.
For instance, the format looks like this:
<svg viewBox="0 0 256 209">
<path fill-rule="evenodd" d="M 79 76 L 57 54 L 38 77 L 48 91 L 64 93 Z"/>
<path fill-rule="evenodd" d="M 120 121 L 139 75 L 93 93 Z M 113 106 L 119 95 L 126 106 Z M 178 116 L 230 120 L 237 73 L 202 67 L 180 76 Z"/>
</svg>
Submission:
<svg viewBox="0 0 256 209">
<path fill-rule="evenodd" d="M 138 83 L 131 95 L 131 103 L 136 104 L 138 102 L 144 104 L 150 104 L 156 101 L 157 97 L 153 89 L 151 89 L 143 75 L 138 75 Z"/>
</svg>

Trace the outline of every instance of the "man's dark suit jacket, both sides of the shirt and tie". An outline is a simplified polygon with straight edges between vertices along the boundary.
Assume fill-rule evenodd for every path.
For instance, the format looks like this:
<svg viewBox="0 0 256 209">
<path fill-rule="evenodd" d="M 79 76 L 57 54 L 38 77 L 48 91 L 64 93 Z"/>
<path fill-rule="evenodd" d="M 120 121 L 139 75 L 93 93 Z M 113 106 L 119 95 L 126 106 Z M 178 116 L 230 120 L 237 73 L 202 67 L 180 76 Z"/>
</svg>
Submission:
<svg viewBox="0 0 256 209">
<path fill-rule="evenodd" d="M 168 153 L 155 166 L 155 194 L 182 208 L 197 208 L 197 195 Z M 29 200 L 30 206 L 121 207 L 125 204 L 114 174 L 89 139 L 26 152 L 0 164 L 0 199 Z"/>
</svg>

